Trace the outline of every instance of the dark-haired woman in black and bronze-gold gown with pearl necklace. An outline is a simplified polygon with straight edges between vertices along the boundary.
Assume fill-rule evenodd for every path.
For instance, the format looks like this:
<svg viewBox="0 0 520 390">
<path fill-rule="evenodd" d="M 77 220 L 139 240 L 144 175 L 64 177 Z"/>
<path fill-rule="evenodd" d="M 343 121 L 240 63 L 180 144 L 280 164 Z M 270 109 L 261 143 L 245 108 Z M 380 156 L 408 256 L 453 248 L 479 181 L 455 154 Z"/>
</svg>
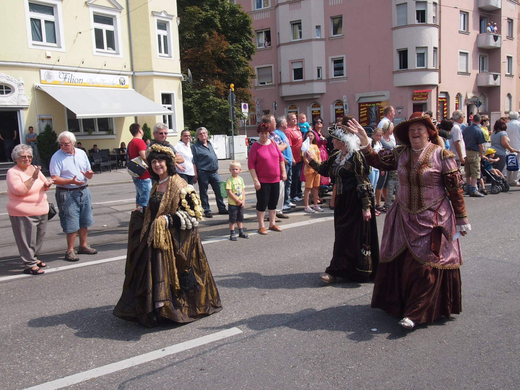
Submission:
<svg viewBox="0 0 520 390">
<path fill-rule="evenodd" d="M 200 198 L 176 174 L 175 154 L 163 142 L 147 150 L 158 180 L 146 210 L 132 213 L 123 293 L 113 314 L 146 327 L 160 318 L 191 322 L 222 310 L 197 228 Z"/>
</svg>

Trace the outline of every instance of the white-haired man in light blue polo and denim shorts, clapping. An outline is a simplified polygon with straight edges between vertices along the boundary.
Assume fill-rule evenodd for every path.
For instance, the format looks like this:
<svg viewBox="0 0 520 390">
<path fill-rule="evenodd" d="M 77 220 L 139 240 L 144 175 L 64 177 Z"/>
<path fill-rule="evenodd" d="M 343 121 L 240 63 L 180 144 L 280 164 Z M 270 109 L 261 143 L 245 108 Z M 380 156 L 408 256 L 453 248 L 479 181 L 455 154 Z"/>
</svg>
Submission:
<svg viewBox="0 0 520 390">
<path fill-rule="evenodd" d="M 77 262 L 80 258 L 74 253 L 76 233 L 80 236 L 77 253 L 93 255 L 97 250 L 87 245 L 87 228 L 94 225 L 92 202 L 87 179 L 94 172 L 90 169 L 87 154 L 74 148 L 74 133 L 62 132 L 58 135 L 60 149 L 50 159 L 50 177 L 56 185 L 56 203 L 58 204 L 61 228 L 67 234 L 67 253 L 65 259 Z"/>
</svg>

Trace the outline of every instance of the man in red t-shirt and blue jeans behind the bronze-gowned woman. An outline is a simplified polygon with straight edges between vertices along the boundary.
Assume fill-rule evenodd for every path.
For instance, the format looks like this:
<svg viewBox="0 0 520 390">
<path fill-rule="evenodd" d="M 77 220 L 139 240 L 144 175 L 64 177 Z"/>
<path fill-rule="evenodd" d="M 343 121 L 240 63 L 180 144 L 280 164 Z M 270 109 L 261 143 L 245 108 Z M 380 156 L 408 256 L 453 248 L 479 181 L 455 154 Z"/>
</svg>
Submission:
<svg viewBox="0 0 520 390">
<path fill-rule="evenodd" d="M 142 132 L 141 125 L 139 123 L 132 123 L 130 125 L 130 133 L 132 133 L 134 138 L 132 138 L 128 143 L 128 160 L 140 156 L 142 161 L 144 161 L 145 164 L 148 164 L 145 154 L 146 144 L 145 141 L 142 140 L 144 133 Z M 150 190 L 152 189 L 152 179 L 150 178 L 150 173 L 148 171 L 138 178 L 133 177 L 132 179 L 134 180 L 136 192 L 135 206 L 138 210 L 140 209 L 140 211 L 142 211 L 142 207 L 148 205 L 148 198 L 150 197 Z"/>
</svg>

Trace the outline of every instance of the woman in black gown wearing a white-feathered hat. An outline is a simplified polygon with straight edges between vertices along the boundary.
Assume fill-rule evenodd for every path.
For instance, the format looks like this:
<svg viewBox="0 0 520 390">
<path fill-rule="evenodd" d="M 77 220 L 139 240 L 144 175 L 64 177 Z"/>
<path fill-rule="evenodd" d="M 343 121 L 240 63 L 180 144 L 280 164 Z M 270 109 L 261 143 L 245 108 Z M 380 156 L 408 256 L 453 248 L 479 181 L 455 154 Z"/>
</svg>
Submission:
<svg viewBox="0 0 520 390">
<path fill-rule="evenodd" d="M 336 278 L 363 282 L 375 279 L 379 264 L 378 228 L 375 222 L 370 166 L 359 152 L 359 139 L 346 127 L 328 129 L 334 149 L 326 161 L 318 163 L 306 152 L 309 165 L 320 175 L 334 176 L 334 249 L 330 265 L 319 278 L 327 283 Z"/>
</svg>

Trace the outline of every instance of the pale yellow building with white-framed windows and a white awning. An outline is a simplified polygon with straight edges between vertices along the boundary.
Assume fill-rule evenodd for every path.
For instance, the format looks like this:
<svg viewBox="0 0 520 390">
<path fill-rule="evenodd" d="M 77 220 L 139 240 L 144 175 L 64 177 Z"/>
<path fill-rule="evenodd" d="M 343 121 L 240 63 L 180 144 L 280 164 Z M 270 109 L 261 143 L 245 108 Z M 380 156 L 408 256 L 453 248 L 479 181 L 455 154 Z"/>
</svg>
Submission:
<svg viewBox="0 0 520 390">
<path fill-rule="evenodd" d="M 50 123 L 87 150 L 119 148 L 136 120 L 184 128 L 175 0 L 2 0 L 0 132 Z M 137 117 L 137 118 L 135 118 Z M 21 134 L 21 136 L 20 136 Z M 3 141 L 0 140 L 0 144 Z M 0 145 L 0 161 L 5 161 Z"/>
</svg>

